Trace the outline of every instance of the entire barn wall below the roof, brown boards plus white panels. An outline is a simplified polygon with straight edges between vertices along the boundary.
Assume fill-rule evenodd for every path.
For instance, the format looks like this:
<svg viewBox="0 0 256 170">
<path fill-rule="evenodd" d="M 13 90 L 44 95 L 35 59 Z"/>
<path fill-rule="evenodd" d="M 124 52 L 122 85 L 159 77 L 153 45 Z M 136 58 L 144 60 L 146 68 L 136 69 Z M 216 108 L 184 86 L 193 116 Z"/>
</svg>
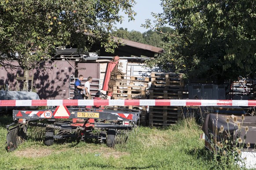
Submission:
<svg viewBox="0 0 256 170">
<path fill-rule="evenodd" d="M 106 62 L 101 63 L 78 63 L 76 61 L 45 61 L 38 65 L 33 71 L 30 72 L 30 76 L 34 74 L 33 88 L 37 92 L 40 99 L 68 99 L 69 94 L 69 78 L 73 76 L 77 78 L 80 74 L 84 75 L 83 85 L 87 78 L 91 76 L 94 81 L 91 84 L 92 93 L 96 93 L 97 89 L 102 89 L 103 79 L 106 71 Z M 12 64 L 18 65 L 13 62 Z M 150 73 L 143 67 L 142 63 L 128 62 L 127 75 L 149 77 Z M 9 89 L 16 91 L 17 80 L 15 79 L 17 74 L 23 76 L 23 70 L 8 70 L 0 68 L 0 85 L 8 84 Z M 22 83 L 19 83 L 22 85 Z M 99 84 L 99 87 L 98 87 Z M 71 84 L 73 87 L 73 84 Z M 21 88 L 20 88 L 21 89 Z M 72 92 L 72 90 L 71 90 Z M 102 91 L 106 94 L 105 91 Z"/>
</svg>

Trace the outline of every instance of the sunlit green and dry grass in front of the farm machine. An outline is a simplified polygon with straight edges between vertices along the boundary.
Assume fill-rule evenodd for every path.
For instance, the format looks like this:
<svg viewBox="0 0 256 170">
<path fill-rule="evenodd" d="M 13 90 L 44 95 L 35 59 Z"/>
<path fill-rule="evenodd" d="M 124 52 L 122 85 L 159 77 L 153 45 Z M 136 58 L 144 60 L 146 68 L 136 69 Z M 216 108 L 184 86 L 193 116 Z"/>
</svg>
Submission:
<svg viewBox="0 0 256 170">
<path fill-rule="evenodd" d="M 180 121 L 168 128 L 139 127 L 126 147 L 110 149 L 105 144 L 75 142 L 45 146 L 29 139 L 14 152 L 5 150 L 11 117 L 0 117 L 0 169 L 73 170 L 212 170 L 220 169 L 204 141 L 201 127 L 194 119 Z M 235 168 L 235 167 L 234 167 Z"/>
</svg>

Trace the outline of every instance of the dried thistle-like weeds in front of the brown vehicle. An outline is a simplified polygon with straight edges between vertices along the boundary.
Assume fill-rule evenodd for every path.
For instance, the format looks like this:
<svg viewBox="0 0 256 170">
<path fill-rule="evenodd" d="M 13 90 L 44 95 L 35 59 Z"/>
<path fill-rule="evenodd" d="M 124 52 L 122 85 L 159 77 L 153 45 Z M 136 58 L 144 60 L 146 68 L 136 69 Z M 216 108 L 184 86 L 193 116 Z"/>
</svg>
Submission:
<svg viewBox="0 0 256 170">
<path fill-rule="evenodd" d="M 246 119 L 250 119 L 250 117 L 246 117 Z M 242 156 L 242 152 L 250 152 L 253 149 L 250 143 L 246 142 L 246 134 L 249 131 L 249 127 L 243 125 L 245 116 L 226 116 L 226 123 L 220 125 L 218 125 L 218 120 L 218 114 L 216 114 L 215 120 L 211 120 L 215 127 L 213 134 L 211 133 L 210 136 L 210 143 L 214 159 L 219 162 L 221 169 L 230 169 L 234 164 L 238 166 L 238 169 L 238 164 L 242 168 L 252 166 L 246 165 L 246 157 Z M 249 137 L 251 138 L 250 135 Z"/>
</svg>

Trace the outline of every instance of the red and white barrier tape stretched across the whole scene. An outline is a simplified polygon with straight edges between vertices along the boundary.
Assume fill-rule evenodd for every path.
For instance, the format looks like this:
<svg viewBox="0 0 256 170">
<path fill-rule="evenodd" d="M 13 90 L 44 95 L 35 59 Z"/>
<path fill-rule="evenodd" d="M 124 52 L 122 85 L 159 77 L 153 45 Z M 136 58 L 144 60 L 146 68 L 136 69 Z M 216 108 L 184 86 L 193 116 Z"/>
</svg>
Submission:
<svg viewBox="0 0 256 170">
<path fill-rule="evenodd" d="M 256 106 L 256 100 L 190 100 L 190 99 L 0 100 L 0 106 Z"/>
</svg>

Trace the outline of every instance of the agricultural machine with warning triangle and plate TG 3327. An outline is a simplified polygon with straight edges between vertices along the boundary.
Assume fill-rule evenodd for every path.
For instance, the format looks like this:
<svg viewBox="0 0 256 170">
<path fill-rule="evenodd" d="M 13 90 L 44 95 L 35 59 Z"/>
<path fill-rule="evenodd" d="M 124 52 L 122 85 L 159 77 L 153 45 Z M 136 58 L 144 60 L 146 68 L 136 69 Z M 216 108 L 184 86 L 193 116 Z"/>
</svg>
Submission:
<svg viewBox="0 0 256 170">
<path fill-rule="evenodd" d="M 140 114 L 139 110 L 80 109 L 57 106 L 50 110 L 13 110 L 15 123 L 7 125 L 7 151 L 26 141 L 28 126 L 43 129 L 45 145 L 73 138 L 77 142 L 95 139 L 113 148 L 126 142 Z"/>
</svg>

